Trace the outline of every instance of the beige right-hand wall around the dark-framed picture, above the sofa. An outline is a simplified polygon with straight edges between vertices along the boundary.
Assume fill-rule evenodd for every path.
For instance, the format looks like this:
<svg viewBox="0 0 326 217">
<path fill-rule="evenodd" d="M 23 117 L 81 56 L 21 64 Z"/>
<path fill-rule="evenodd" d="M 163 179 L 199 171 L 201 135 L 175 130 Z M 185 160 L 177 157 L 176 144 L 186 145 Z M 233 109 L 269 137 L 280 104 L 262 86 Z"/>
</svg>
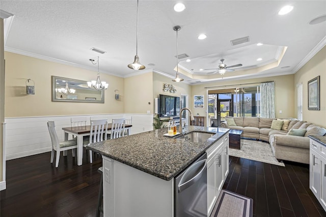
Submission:
<svg viewBox="0 0 326 217">
<path fill-rule="evenodd" d="M 318 75 L 320 76 L 320 111 L 308 110 L 308 81 Z M 303 120 L 326 127 L 326 46 L 295 73 L 295 96 L 296 85 L 301 83 L 303 84 Z M 296 103 L 295 97 L 294 105 Z M 294 107 L 296 114 L 297 108 Z"/>
</svg>

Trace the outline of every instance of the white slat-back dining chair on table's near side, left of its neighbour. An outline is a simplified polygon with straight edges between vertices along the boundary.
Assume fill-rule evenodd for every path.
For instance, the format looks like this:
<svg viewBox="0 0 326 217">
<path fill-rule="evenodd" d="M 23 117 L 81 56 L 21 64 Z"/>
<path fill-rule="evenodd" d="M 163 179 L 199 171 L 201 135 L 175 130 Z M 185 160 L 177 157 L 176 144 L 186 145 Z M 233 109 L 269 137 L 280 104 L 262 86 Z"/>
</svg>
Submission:
<svg viewBox="0 0 326 217">
<path fill-rule="evenodd" d="M 89 142 L 84 142 L 84 147 L 91 143 L 101 142 L 107 139 L 107 119 L 92 120 Z M 92 150 L 89 150 L 90 162 L 93 162 Z"/>
</svg>

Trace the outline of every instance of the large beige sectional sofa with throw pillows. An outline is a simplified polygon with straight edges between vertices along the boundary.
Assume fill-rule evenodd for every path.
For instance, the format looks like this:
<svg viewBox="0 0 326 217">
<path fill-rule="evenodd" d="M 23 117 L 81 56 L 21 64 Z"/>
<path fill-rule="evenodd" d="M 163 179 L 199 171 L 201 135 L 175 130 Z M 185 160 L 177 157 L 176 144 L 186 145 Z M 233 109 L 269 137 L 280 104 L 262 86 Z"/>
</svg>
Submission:
<svg viewBox="0 0 326 217">
<path fill-rule="evenodd" d="M 243 138 L 269 142 L 276 158 L 309 164 L 308 135 L 324 135 L 326 129 L 297 119 L 226 117 L 224 128 L 243 130 Z"/>
</svg>

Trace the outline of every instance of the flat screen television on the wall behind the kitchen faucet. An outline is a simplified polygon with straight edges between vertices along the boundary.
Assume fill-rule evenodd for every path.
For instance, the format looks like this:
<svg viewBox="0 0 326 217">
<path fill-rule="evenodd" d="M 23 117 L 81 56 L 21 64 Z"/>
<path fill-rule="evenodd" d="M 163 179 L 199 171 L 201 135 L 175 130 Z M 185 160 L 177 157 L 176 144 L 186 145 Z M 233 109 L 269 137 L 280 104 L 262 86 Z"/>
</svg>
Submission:
<svg viewBox="0 0 326 217">
<path fill-rule="evenodd" d="M 159 117 L 180 115 L 180 97 L 159 94 Z"/>
</svg>

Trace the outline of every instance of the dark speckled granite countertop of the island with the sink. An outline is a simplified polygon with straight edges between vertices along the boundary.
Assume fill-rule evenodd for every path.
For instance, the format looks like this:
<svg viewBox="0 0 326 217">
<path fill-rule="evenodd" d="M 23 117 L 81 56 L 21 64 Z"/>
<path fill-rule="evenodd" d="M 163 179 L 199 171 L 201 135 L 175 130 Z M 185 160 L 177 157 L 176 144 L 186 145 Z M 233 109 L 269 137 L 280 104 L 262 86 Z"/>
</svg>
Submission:
<svg viewBox="0 0 326 217">
<path fill-rule="evenodd" d="M 226 128 L 200 126 L 186 126 L 185 129 L 188 132 L 205 131 L 216 134 L 203 143 L 186 142 L 164 136 L 168 128 L 162 128 L 92 143 L 87 149 L 169 181 L 229 131 Z"/>
</svg>

